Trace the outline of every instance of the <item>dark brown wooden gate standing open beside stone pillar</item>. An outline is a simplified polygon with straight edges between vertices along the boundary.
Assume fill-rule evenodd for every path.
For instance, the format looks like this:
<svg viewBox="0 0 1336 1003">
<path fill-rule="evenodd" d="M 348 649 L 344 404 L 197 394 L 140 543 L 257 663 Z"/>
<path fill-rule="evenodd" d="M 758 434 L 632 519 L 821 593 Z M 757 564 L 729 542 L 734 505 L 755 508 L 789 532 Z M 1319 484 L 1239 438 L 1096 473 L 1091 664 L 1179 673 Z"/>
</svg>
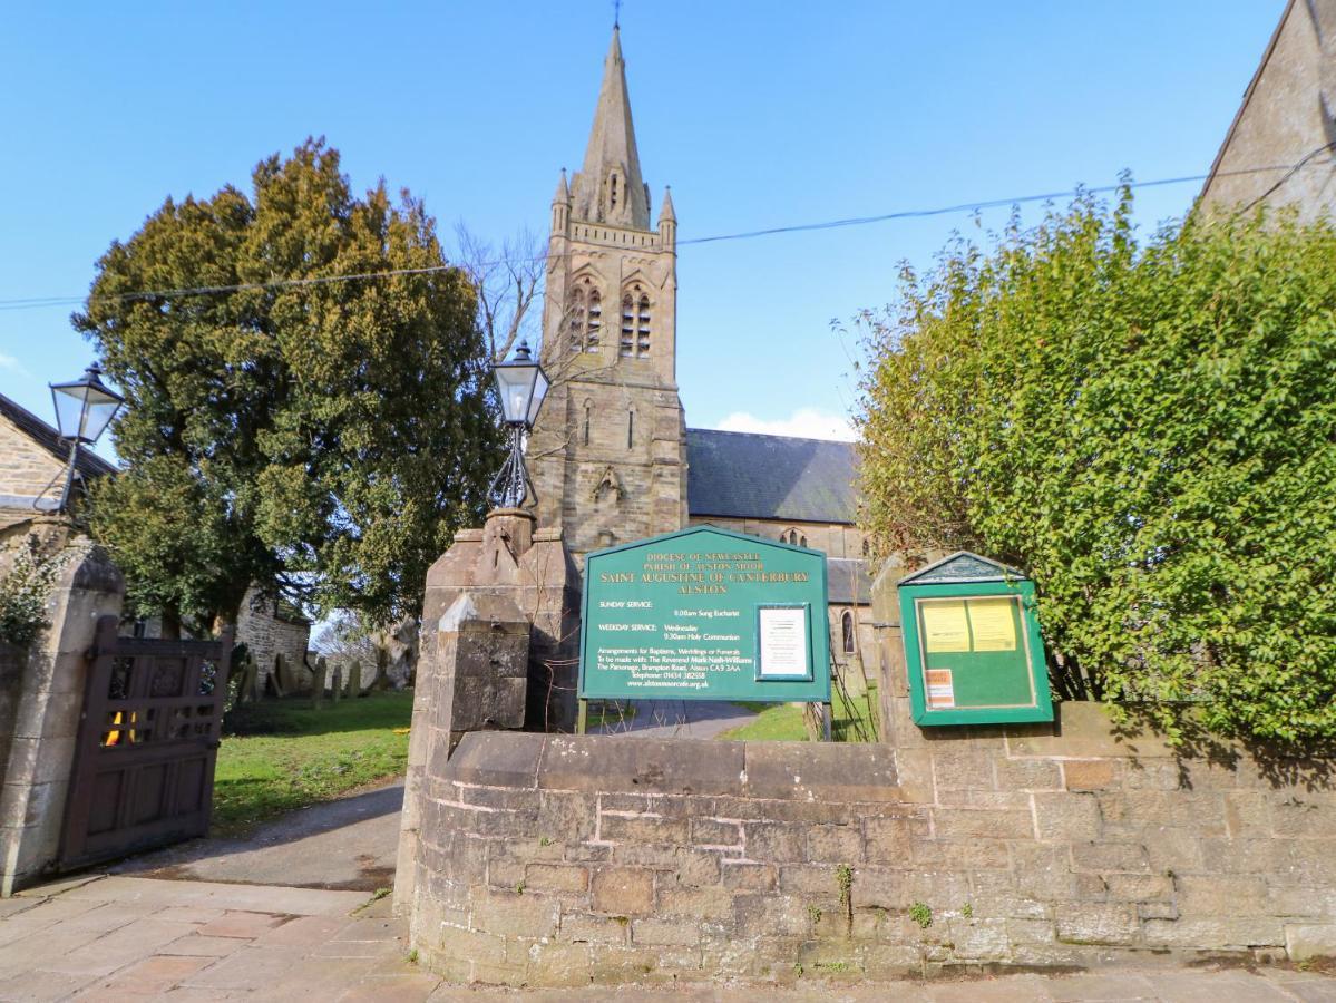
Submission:
<svg viewBox="0 0 1336 1003">
<path fill-rule="evenodd" d="M 231 630 L 218 641 L 119 637 L 98 621 L 60 867 L 203 836 L 227 694 Z"/>
</svg>

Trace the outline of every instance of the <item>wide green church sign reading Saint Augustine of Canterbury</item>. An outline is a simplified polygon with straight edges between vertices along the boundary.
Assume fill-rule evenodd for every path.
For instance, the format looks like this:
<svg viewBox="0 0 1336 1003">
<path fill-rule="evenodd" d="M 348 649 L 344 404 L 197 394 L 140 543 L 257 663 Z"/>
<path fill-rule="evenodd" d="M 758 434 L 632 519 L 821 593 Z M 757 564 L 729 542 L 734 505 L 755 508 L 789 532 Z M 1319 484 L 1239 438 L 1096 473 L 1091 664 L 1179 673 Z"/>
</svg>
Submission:
<svg viewBox="0 0 1336 1003">
<path fill-rule="evenodd" d="M 826 554 L 713 526 L 591 553 L 580 697 L 828 703 Z"/>
</svg>

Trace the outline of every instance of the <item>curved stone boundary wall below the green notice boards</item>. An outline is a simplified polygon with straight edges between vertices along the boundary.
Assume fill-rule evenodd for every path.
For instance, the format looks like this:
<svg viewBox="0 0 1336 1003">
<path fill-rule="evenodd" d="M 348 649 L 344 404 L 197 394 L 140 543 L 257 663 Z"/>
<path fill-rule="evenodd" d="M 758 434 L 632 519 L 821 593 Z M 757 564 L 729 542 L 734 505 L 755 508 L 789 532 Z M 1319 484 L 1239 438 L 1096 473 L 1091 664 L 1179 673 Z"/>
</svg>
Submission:
<svg viewBox="0 0 1336 1003">
<path fill-rule="evenodd" d="M 417 793 L 413 946 L 513 986 L 1336 954 L 1321 764 L 1061 711 L 904 748 L 466 735 Z"/>
</svg>

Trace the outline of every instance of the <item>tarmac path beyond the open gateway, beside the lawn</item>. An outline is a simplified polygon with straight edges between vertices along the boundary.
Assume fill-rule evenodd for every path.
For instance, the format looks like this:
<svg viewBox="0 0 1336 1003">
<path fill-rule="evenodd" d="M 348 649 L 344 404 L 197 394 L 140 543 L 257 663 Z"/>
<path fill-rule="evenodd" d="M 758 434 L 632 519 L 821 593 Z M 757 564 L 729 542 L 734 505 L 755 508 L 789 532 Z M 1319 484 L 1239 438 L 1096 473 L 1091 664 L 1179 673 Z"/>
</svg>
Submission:
<svg viewBox="0 0 1336 1003">
<path fill-rule="evenodd" d="M 112 873 L 373 892 L 394 884 L 403 781 L 317 804 L 246 839 L 196 839 L 131 857 Z"/>
</svg>

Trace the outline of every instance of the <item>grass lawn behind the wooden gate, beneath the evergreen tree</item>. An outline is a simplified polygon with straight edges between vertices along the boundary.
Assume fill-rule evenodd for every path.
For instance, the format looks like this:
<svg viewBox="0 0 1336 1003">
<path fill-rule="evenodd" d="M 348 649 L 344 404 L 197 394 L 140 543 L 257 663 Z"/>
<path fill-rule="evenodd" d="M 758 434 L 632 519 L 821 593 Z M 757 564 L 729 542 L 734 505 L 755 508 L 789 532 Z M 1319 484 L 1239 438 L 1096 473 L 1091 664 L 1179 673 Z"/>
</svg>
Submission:
<svg viewBox="0 0 1336 1003">
<path fill-rule="evenodd" d="M 212 835 L 235 836 L 275 815 L 401 776 L 411 717 L 411 689 L 326 703 L 319 711 L 309 697 L 239 704 L 223 720 Z"/>
</svg>

